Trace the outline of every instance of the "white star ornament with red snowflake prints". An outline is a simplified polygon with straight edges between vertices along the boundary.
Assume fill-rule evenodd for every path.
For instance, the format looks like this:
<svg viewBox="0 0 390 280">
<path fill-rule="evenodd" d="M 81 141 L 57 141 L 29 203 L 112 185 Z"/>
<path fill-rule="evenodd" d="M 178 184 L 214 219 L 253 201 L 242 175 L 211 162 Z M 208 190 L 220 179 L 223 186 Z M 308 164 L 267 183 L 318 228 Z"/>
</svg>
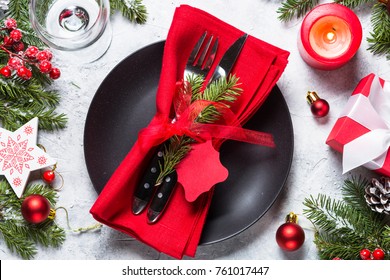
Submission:
<svg viewBox="0 0 390 280">
<path fill-rule="evenodd" d="M 56 161 L 37 146 L 38 118 L 18 130 L 0 128 L 0 175 L 4 175 L 20 198 L 30 172 L 54 165 Z"/>
</svg>

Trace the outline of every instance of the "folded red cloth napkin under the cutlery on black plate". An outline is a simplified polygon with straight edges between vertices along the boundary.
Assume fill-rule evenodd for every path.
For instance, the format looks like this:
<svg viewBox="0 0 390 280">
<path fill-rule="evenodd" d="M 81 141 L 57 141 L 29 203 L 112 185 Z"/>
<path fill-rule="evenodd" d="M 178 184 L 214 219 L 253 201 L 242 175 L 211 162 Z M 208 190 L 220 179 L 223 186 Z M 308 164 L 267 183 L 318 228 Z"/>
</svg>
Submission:
<svg viewBox="0 0 390 280">
<path fill-rule="evenodd" d="M 157 113 L 151 120 L 169 116 L 176 82 L 183 78 L 189 54 L 203 32 L 219 37 L 216 61 L 244 33 L 218 18 L 188 5 L 175 11 L 165 43 L 163 64 L 156 97 Z M 233 68 L 240 78 L 243 93 L 232 111 L 243 124 L 267 98 L 287 65 L 289 53 L 255 37 L 249 36 Z M 124 116 L 126 117 L 126 116 Z M 125 232 L 156 250 L 175 258 L 195 256 L 210 206 L 212 191 L 202 194 L 195 202 L 184 198 L 177 187 L 169 207 L 160 220 L 150 225 L 146 213 L 133 215 L 131 204 L 137 182 L 148 163 L 153 147 L 137 141 L 91 208 L 93 217 L 110 227 Z M 146 151 L 146 152 L 145 152 Z M 146 212 L 146 211 L 144 211 Z"/>
</svg>

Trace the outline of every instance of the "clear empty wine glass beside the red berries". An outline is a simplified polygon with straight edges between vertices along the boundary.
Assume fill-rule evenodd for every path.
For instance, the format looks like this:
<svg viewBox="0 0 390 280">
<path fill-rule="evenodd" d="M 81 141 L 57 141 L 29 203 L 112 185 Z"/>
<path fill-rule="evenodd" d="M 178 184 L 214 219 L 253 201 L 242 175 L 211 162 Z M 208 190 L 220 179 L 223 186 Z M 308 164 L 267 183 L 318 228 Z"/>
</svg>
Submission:
<svg viewBox="0 0 390 280">
<path fill-rule="evenodd" d="M 109 0 L 30 0 L 29 13 L 38 37 L 61 56 L 93 62 L 111 44 Z"/>
</svg>

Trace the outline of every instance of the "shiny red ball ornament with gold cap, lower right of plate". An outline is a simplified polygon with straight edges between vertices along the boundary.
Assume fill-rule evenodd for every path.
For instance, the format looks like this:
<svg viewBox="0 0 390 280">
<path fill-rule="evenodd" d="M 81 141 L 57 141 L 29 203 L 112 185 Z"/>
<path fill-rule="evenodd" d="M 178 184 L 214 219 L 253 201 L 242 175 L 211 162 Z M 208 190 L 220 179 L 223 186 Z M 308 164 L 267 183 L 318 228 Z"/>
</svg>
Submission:
<svg viewBox="0 0 390 280">
<path fill-rule="evenodd" d="M 283 250 L 298 250 L 305 242 L 305 232 L 296 220 L 296 215 L 290 213 L 286 218 L 286 223 L 282 224 L 276 231 L 276 242 Z"/>
</svg>

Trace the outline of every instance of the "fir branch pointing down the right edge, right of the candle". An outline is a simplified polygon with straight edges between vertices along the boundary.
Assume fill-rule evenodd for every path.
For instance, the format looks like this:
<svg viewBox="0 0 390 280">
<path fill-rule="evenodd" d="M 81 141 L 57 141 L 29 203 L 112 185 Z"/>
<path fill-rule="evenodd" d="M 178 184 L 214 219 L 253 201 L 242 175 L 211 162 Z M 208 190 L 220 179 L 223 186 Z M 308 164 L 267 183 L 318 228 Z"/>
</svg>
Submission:
<svg viewBox="0 0 390 280">
<path fill-rule="evenodd" d="M 387 13 L 386 5 L 377 3 L 372 7 L 371 12 L 372 32 L 367 38 L 368 50 L 374 54 L 385 55 L 390 60 L 390 16 Z"/>
</svg>

